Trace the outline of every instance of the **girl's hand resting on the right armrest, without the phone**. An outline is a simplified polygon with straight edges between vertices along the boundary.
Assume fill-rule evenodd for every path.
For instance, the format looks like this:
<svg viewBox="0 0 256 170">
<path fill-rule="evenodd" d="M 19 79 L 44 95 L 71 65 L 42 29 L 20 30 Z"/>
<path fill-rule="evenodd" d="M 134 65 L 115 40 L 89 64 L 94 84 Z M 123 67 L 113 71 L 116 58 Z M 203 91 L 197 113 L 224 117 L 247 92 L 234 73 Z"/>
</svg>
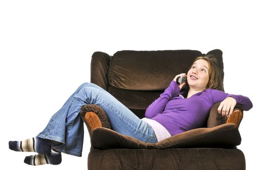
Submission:
<svg viewBox="0 0 256 170">
<path fill-rule="evenodd" d="M 222 117 L 230 117 L 233 113 L 234 107 L 236 106 L 237 101 L 232 97 L 227 97 L 223 100 L 218 107 L 219 114 L 222 114 Z"/>
</svg>

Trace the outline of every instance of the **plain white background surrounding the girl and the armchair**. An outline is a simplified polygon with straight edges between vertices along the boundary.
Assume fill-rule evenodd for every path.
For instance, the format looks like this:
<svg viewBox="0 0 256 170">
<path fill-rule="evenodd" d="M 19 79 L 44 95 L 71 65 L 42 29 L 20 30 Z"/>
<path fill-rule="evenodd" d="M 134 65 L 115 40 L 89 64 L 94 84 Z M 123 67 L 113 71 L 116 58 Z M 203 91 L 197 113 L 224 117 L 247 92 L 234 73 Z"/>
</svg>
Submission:
<svg viewBox="0 0 256 170">
<path fill-rule="evenodd" d="M 95 51 L 221 49 L 225 91 L 254 103 L 254 16 L 250 0 L 1 0 L 0 167 L 87 169 L 86 129 L 83 156 L 63 153 L 58 166 L 28 166 L 24 157 L 34 153 L 11 151 L 8 141 L 36 136 L 74 90 L 90 82 Z M 255 120 L 253 108 L 239 127 L 247 170 L 255 169 Z"/>
</svg>

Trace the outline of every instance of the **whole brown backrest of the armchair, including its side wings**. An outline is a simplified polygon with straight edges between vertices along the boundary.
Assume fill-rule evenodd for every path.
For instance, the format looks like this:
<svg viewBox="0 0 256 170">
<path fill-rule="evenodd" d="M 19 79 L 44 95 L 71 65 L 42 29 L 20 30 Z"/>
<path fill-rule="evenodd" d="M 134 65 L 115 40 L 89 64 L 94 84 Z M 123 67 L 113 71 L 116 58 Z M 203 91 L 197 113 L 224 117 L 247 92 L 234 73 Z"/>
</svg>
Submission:
<svg viewBox="0 0 256 170">
<path fill-rule="evenodd" d="M 223 70 L 222 51 L 213 50 Z M 195 50 L 118 51 L 113 56 L 94 52 L 91 83 L 101 86 L 143 118 L 147 107 L 180 73 L 187 73 L 194 59 L 203 55 Z M 224 72 L 222 73 L 222 79 Z"/>
</svg>

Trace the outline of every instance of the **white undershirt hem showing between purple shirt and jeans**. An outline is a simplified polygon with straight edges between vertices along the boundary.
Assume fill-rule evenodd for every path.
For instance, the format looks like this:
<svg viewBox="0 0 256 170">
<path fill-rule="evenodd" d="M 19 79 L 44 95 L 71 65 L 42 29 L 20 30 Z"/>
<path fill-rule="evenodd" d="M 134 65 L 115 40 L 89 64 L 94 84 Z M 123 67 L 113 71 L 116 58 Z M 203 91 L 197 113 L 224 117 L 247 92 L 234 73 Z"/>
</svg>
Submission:
<svg viewBox="0 0 256 170">
<path fill-rule="evenodd" d="M 171 136 L 167 129 L 157 121 L 148 118 L 142 118 L 141 120 L 145 121 L 152 127 L 158 142 Z"/>
</svg>

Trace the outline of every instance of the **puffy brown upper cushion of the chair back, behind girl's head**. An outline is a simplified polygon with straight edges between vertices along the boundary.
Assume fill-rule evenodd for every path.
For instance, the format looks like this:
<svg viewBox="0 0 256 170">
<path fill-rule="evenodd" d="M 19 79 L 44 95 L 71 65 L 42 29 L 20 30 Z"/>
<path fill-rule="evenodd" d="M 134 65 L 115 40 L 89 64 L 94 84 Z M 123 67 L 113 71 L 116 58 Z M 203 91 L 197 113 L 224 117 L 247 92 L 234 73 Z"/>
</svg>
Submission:
<svg viewBox="0 0 256 170">
<path fill-rule="evenodd" d="M 109 85 L 127 90 L 161 91 L 175 75 L 186 72 L 188 65 L 200 55 L 195 50 L 118 51 L 109 63 Z"/>
</svg>

